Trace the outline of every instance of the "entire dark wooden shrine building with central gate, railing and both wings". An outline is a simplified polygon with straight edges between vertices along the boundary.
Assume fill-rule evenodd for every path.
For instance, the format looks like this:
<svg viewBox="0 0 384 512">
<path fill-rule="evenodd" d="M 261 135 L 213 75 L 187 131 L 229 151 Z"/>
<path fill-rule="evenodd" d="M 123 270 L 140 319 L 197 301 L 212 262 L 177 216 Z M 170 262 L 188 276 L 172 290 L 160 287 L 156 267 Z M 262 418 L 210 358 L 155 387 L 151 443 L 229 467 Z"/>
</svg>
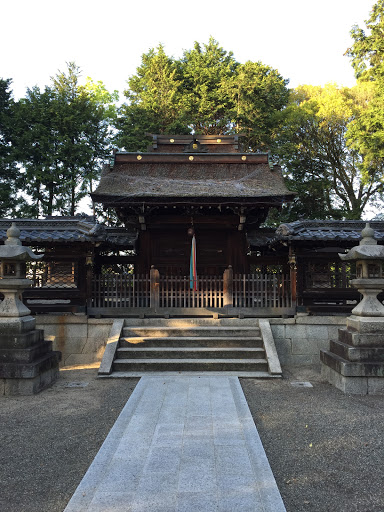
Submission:
<svg viewBox="0 0 384 512">
<path fill-rule="evenodd" d="M 154 135 L 146 153 L 115 153 L 93 194 L 125 227 L 16 219 L 23 244 L 45 253 L 29 268 L 27 305 L 109 316 L 349 313 L 359 295 L 338 253 L 358 243 L 364 222 L 260 227 L 270 207 L 292 197 L 268 154 L 242 152 L 237 136 Z M 0 220 L 3 240 L 11 222 Z M 384 222 L 372 226 L 383 243 Z"/>
</svg>

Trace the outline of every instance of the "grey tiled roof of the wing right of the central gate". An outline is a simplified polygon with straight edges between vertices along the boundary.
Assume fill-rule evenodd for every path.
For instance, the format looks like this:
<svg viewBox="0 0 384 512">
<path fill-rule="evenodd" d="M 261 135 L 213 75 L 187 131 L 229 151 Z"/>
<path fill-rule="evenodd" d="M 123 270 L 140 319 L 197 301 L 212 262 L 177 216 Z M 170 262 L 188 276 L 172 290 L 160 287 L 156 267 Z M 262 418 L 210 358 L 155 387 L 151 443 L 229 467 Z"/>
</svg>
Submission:
<svg viewBox="0 0 384 512">
<path fill-rule="evenodd" d="M 384 241 L 384 222 L 370 221 L 375 238 Z M 301 220 L 281 224 L 276 230 L 278 240 L 297 241 L 353 241 L 361 239 L 366 221 L 357 220 Z"/>
</svg>

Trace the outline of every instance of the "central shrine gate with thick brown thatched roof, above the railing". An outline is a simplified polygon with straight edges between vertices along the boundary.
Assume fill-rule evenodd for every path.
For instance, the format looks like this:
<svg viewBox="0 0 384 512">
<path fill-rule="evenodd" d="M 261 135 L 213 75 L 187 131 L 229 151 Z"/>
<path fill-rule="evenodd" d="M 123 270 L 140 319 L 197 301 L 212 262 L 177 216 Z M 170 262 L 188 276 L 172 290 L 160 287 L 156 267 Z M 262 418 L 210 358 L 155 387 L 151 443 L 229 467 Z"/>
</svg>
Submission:
<svg viewBox="0 0 384 512">
<path fill-rule="evenodd" d="M 244 153 L 238 136 L 153 135 L 147 153 L 115 153 L 94 201 L 113 207 L 137 233 L 135 272 L 189 273 L 191 230 L 197 273 L 249 273 L 246 233 L 293 194 L 268 154 Z"/>
</svg>

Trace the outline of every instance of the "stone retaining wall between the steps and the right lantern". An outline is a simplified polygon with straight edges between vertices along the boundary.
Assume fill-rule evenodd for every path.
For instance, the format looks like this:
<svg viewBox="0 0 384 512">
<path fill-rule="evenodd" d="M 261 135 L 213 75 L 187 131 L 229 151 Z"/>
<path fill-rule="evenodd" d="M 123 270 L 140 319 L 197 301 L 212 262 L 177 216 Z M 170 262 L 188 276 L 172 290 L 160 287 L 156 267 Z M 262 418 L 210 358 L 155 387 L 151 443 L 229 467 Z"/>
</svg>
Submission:
<svg viewBox="0 0 384 512">
<path fill-rule="evenodd" d="M 271 318 L 271 329 L 280 363 L 301 366 L 320 363 L 320 350 L 329 350 L 329 340 L 337 340 L 345 327 L 345 316 L 297 316 Z"/>
</svg>

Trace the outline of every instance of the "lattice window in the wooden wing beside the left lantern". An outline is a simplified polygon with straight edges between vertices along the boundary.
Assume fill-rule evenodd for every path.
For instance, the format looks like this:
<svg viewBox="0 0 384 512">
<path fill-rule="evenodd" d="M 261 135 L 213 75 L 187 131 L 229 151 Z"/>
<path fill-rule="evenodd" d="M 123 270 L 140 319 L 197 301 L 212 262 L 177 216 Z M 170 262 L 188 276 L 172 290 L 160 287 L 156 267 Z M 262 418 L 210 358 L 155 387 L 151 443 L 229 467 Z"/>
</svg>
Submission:
<svg viewBox="0 0 384 512">
<path fill-rule="evenodd" d="M 35 288 L 77 288 L 76 261 L 33 261 L 27 264 L 27 278 Z"/>
</svg>

